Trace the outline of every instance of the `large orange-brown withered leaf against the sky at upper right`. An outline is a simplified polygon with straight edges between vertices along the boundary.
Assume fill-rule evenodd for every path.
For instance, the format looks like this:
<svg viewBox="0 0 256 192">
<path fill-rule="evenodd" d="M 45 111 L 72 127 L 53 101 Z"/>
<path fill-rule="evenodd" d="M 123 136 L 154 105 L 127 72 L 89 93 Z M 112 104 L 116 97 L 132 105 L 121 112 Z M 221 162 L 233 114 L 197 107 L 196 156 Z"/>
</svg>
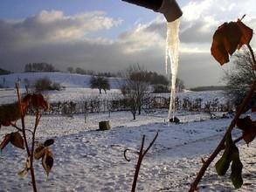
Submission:
<svg viewBox="0 0 256 192">
<path fill-rule="evenodd" d="M 211 55 L 220 65 L 229 62 L 229 55 L 242 45 L 249 45 L 253 30 L 240 20 L 222 24 L 213 35 Z"/>
</svg>

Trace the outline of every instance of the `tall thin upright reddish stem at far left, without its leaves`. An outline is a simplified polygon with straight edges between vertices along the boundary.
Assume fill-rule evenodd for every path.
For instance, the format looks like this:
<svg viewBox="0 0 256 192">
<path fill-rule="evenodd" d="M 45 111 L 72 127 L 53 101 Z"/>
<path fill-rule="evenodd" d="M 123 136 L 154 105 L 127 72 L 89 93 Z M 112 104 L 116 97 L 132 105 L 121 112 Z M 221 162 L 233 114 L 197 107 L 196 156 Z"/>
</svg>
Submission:
<svg viewBox="0 0 256 192">
<path fill-rule="evenodd" d="M 19 88 L 18 85 L 16 84 L 16 90 L 17 90 L 17 99 L 18 99 L 18 106 L 19 106 L 19 110 L 21 113 L 21 125 L 22 125 L 22 134 L 24 137 L 24 144 L 25 144 L 25 148 L 28 154 L 28 157 L 31 158 L 31 155 L 33 154 L 32 151 L 30 151 L 29 145 L 28 145 L 28 141 L 27 141 L 27 137 L 26 137 L 26 132 L 25 132 L 25 125 L 24 125 L 24 111 L 22 109 L 22 104 L 21 104 L 21 98 L 20 98 L 20 93 L 19 93 Z M 33 186 L 33 191 L 37 192 L 37 184 L 36 184 L 36 179 L 35 179 L 35 173 L 34 173 L 34 168 L 32 166 L 32 158 L 31 158 L 31 168 L 30 168 L 30 172 L 31 172 L 31 182 L 32 182 L 32 186 Z"/>
</svg>

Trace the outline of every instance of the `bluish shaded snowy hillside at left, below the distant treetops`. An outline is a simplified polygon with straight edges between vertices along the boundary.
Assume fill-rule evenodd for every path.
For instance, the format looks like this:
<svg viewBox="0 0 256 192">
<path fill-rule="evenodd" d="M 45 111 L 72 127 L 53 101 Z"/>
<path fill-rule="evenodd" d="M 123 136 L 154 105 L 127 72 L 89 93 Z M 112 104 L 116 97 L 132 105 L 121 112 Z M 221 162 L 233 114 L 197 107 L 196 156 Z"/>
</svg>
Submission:
<svg viewBox="0 0 256 192">
<path fill-rule="evenodd" d="M 15 83 L 19 83 L 20 87 L 27 84 L 33 84 L 37 79 L 48 78 L 52 82 L 59 83 L 64 87 L 84 87 L 90 88 L 91 75 L 81 75 L 76 73 L 65 72 L 20 72 L 10 73 L 0 76 L 0 84 L 4 87 L 14 87 Z M 107 78 L 111 89 L 117 89 L 121 85 L 122 79 Z"/>
</svg>

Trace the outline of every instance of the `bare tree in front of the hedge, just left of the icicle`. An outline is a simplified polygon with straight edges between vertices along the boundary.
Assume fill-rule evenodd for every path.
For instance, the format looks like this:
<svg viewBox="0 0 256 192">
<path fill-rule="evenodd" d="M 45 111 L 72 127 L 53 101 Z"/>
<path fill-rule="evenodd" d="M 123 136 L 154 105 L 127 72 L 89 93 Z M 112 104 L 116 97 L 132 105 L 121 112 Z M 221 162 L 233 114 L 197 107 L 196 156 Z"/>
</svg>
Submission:
<svg viewBox="0 0 256 192">
<path fill-rule="evenodd" d="M 142 113 L 142 106 L 149 93 L 149 83 L 145 78 L 146 72 L 140 65 L 132 65 L 125 74 L 125 82 L 121 86 L 121 93 L 127 102 L 127 105 L 134 116 L 138 111 Z"/>
</svg>

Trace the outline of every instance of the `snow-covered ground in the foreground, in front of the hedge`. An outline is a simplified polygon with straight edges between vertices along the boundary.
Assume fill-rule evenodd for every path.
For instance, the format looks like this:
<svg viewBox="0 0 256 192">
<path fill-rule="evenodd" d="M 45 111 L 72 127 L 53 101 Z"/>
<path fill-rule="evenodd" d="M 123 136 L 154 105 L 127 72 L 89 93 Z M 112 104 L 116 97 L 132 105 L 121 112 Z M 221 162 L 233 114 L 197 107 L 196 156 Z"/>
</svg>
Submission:
<svg viewBox="0 0 256 192">
<path fill-rule="evenodd" d="M 201 116 L 204 121 L 198 120 Z M 40 162 L 36 162 L 39 191 L 130 191 L 135 172 L 136 154 L 146 135 L 146 145 L 156 134 L 159 136 L 149 150 L 138 180 L 138 191 L 185 191 L 206 157 L 216 147 L 231 119 L 206 120 L 204 114 L 181 116 L 182 124 L 165 122 L 166 113 L 141 115 L 131 120 L 128 112 L 89 114 L 73 117 L 44 116 L 38 127 L 38 141 L 54 138 L 52 146 L 54 166 L 47 178 Z M 97 131 L 100 120 L 110 120 L 112 129 Z M 33 125 L 33 117 L 26 118 L 27 126 Z M 10 131 L 3 127 L 1 137 Z M 236 136 L 239 135 L 239 132 Z M 239 145 L 244 163 L 245 185 L 237 191 L 255 191 L 255 145 Z M 128 148 L 125 161 L 123 151 Z M 0 191 L 31 191 L 28 178 L 21 179 L 17 172 L 24 167 L 24 151 L 11 147 L 0 155 Z M 214 164 L 200 183 L 200 191 L 231 191 L 228 174 L 218 177 Z"/>
</svg>

